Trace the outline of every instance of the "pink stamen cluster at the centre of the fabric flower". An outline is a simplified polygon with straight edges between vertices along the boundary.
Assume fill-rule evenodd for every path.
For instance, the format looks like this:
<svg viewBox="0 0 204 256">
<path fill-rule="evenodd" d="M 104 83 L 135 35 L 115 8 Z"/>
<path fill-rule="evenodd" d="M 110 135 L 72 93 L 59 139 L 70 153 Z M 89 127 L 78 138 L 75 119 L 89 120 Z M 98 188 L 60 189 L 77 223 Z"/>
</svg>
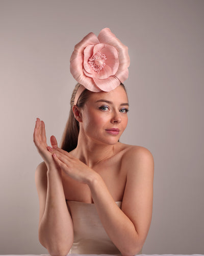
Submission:
<svg viewBox="0 0 204 256">
<path fill-rule="evenodd" d="M 106 65 L 106 59 L 106 55 L 101 53 L 101 51 L 98 51 L 88 59 L 88 63 L 95 72 L 99 73 Z"/>
</svg>

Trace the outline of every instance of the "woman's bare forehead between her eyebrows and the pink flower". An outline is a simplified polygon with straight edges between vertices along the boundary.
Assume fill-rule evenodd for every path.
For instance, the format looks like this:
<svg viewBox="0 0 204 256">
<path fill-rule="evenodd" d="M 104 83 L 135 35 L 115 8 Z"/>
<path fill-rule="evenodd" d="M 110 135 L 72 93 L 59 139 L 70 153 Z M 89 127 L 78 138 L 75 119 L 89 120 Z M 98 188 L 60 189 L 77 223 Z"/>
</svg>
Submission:
<svg viewBox="0 0 204 256">
<path fill-rule="evenodd" d="M 118 103 L 127 103 L 127 94 L 122 86 L 118 86 L 114 90 L 110 92 L 98 92 L 98 93 L 91 93 L 89 96 L 88 101 L 97 101 L 99 99 L 106 99 L 113 102 Z"/>
</svg>

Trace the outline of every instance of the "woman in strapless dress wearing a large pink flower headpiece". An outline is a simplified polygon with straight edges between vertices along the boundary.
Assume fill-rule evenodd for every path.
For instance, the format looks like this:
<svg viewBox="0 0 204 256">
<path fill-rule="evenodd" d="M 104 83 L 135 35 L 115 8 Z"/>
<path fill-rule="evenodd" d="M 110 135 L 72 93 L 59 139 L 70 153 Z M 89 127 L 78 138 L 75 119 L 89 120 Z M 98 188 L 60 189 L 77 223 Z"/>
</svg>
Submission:
<svg viewBox="0 0 204 256">
<path fill-rule="evenodd" d="M 75 46 L 70 59 L 71 73 L 80 83 L 71 97 L 61 148 L 54 136 L 52 147 L 47 146 L 44 122 L 36 120 L 34 143 L 44 160 L 35 176 L 39 240 L 51 255 L 135 255 L 141 253 L 151 222 L 154 159 L 145 147 L 119 142 L 129 109 L 122 84 L 128 75 L 127 48 L 108 28 L 98 41 L 93 35 Z M 118 60 L 112 65 L 114 54 Z M 84 77 L 78 62 L 82 55 Z M 105 64 L 112 67 L 103 73 Z M 90 67 L 96 78 L 87 72 Z M 107 70 L 113 74 L 107 77 Z"/>
</svg>

